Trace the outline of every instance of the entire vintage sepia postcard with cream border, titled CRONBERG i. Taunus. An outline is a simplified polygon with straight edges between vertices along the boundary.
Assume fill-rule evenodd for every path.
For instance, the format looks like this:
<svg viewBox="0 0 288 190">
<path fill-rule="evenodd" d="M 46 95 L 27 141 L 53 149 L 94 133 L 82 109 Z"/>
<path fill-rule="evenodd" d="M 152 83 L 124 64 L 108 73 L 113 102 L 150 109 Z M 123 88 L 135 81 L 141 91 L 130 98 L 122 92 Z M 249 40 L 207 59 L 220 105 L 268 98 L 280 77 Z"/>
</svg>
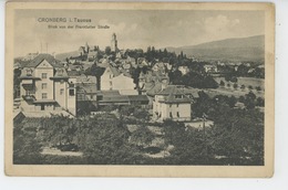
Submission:
<svg viewBox="0 0 288 190">
<path fill-rule="evenodd" d="M 6 21 L 8 176 L 272 176 L 272 3 L 8 2 Z"/>
</svg>

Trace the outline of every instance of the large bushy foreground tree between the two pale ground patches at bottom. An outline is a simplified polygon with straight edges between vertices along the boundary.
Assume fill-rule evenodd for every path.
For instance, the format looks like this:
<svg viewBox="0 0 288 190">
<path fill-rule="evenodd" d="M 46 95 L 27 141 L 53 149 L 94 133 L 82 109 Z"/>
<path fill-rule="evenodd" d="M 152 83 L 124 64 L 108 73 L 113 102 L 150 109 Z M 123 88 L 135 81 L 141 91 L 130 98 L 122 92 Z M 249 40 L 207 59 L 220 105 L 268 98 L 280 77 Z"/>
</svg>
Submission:
<svg viewBox="0 0 288 190">
<path fill-rule="evenodd" d="M 128 144 L 130 133 L 119 119 L 100 116 L 83 125 L 81 149 L 88 163 L 131 165 L 137 160 L 137 150 Z"/>
</svg>

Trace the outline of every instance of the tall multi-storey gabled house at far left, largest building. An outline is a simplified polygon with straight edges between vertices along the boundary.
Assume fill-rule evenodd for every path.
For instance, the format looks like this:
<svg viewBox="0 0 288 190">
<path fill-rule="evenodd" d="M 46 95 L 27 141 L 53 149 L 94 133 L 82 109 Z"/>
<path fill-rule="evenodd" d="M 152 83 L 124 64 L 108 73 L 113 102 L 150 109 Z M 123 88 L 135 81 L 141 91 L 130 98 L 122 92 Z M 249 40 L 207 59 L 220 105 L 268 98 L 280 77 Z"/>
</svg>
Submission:
<svg viewBox="0 0 288 190">
<path fill-rule="evenodd" d="M 50 54 L 39 54 L 20 75 L 21 109 L 24 112 L 68 110 L 75 115 L 75 80 Z"/>
</svg>

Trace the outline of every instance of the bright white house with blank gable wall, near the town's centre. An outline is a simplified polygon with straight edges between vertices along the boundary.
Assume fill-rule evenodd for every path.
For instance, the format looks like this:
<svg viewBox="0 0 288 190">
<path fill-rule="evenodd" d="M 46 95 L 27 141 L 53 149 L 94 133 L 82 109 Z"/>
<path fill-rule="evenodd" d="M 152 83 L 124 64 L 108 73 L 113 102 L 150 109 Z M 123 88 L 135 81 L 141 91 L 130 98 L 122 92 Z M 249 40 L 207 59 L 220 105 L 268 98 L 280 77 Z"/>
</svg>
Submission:
<svg viewBox="0 0 288 190">
<path fill-rule="evenodd" d="M 119 71 L 114 66 L 107 66 L 101 76 L 101 91 L 120 91 L 121 95 L 136 95 L 133 78 L 125 70 Z"/>
</svg>

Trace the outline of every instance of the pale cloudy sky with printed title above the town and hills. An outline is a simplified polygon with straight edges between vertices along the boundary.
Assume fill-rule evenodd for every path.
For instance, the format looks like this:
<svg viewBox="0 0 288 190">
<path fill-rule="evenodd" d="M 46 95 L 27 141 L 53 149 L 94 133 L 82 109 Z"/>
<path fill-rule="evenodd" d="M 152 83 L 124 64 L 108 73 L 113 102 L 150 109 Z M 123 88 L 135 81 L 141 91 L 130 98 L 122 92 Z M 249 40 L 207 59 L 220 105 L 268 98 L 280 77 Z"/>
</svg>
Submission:
<svg viewBox="0 0 288 190">
<path fill-rule="evenodd" d="M 263 11 L 177 11 L 177 10 L 17 10 L 14 14 L 16 56 L 27 53 L 63 53 L 79 46 L 111 45 L 113 33 L 120 49 L 156 49 L 187 46 L 210 41 L 265 34 Z M 39 18 L 91 19 L 72 25 L 95 25 L 95 29 L 48 29 Z M 70 24 L 70 25 L 71 25 Z M 97 29 L 109 25 L 109 29 Z M 48 46 L 48 49 L 47 49 Z"/>
</svg>

